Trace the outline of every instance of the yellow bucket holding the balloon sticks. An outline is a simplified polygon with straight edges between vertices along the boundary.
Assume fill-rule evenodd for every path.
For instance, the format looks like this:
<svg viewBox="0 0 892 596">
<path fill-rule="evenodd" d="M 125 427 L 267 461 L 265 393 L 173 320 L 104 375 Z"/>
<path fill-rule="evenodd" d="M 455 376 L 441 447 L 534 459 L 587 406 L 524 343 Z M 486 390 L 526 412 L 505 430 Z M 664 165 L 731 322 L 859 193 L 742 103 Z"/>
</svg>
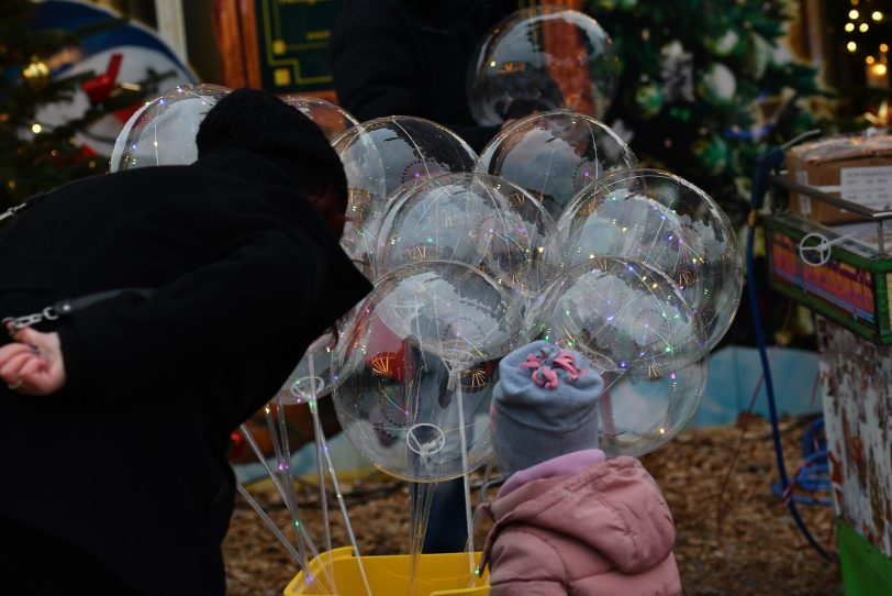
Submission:
<svg viewBox="0 0 892 596">
<path fill-rule="evenodd" d="M 328 558 L 331 556 L 331 566 Z M 475 553 L 475 564 L 480 553 Z M 386 556 L 363 556 L 363 567 L 369 582 L 372 596 L 409 596 L 412 573 L 412 556 L 394 554 Z M 324 552 L 310 561 L 313 582 L 306 585 L 303 572 L 291 580 L 285 588 L 285 596 L 366 596 L 366 585 L 359 573 L 359 564 L 353 556 L 350 547 Z M 328 586 L 331 577 L 335 586 Z M 468 553 L 422 554 L 415 576 L 414 596 L 488 596 L 489 572 L 476 577 L 471 584 L 468 567 Z"/>
</svg>

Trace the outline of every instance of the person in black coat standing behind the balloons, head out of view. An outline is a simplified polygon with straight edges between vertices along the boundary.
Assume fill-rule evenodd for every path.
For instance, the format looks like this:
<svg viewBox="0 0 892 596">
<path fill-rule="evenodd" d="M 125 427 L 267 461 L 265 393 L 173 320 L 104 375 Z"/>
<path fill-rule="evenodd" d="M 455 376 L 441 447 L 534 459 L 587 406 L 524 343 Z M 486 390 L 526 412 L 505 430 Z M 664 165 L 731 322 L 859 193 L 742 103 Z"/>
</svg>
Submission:
<svg viewBox="0 0 892 596">
<path fill-rule="evenodd" d="M 360 121 L 433 120 L 480 152 L 500 126 L 471 118 L 468 65 L 486 33 L 517 8 L 516 0 L 347 0 L 330 46 L 338 101 Z"/>
</svg>

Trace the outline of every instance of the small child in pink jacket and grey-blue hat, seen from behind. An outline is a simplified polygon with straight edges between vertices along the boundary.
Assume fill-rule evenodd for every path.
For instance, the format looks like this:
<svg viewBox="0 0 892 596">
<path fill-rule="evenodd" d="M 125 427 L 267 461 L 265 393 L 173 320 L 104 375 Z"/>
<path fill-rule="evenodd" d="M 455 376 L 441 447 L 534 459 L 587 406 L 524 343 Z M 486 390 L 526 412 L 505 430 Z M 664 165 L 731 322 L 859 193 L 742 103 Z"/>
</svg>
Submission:
<svg viewBox="0 0 892 596">
<path fill-rule="evenodd" d="M 674 525 L 638 460 L 598 449 L 601 375 L 537 341 L 502 358 L 491 408 L 510 475 L 484 506 L 491 596 L 681 594 Z"/>
</svg>

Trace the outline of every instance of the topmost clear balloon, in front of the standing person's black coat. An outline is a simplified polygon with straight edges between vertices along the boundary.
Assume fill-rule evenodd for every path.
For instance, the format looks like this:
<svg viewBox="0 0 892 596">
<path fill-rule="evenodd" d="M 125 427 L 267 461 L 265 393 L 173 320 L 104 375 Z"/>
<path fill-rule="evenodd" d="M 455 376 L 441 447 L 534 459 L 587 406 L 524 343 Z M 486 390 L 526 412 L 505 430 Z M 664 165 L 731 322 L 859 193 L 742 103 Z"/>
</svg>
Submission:
<svg viewBox="0 0 892 596">
<path fill-rule="evenodd" d="M 559 108 L 602 118 L 617 73 L 613 43 L 594 19 L 557 7 L 523 9 L 477 47 L 469 107 L 482 125 Z"/>
</svg>

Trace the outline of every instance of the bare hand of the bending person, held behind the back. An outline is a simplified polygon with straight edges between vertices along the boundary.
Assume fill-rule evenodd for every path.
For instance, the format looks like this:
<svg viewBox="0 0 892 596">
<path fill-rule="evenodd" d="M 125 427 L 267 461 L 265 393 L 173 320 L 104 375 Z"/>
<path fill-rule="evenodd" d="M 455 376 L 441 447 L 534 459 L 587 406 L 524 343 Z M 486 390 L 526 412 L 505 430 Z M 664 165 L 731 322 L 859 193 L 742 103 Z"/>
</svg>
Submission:
<svg viewBox="0 0 892 596">
<path fill-rule="evenodd" d="M 51 395 L 65 386 L 65 363 L 58 333 L 31 328 L 16 331 L 0 347 L 0 379 L 22 395 Z"/>
</svg>

